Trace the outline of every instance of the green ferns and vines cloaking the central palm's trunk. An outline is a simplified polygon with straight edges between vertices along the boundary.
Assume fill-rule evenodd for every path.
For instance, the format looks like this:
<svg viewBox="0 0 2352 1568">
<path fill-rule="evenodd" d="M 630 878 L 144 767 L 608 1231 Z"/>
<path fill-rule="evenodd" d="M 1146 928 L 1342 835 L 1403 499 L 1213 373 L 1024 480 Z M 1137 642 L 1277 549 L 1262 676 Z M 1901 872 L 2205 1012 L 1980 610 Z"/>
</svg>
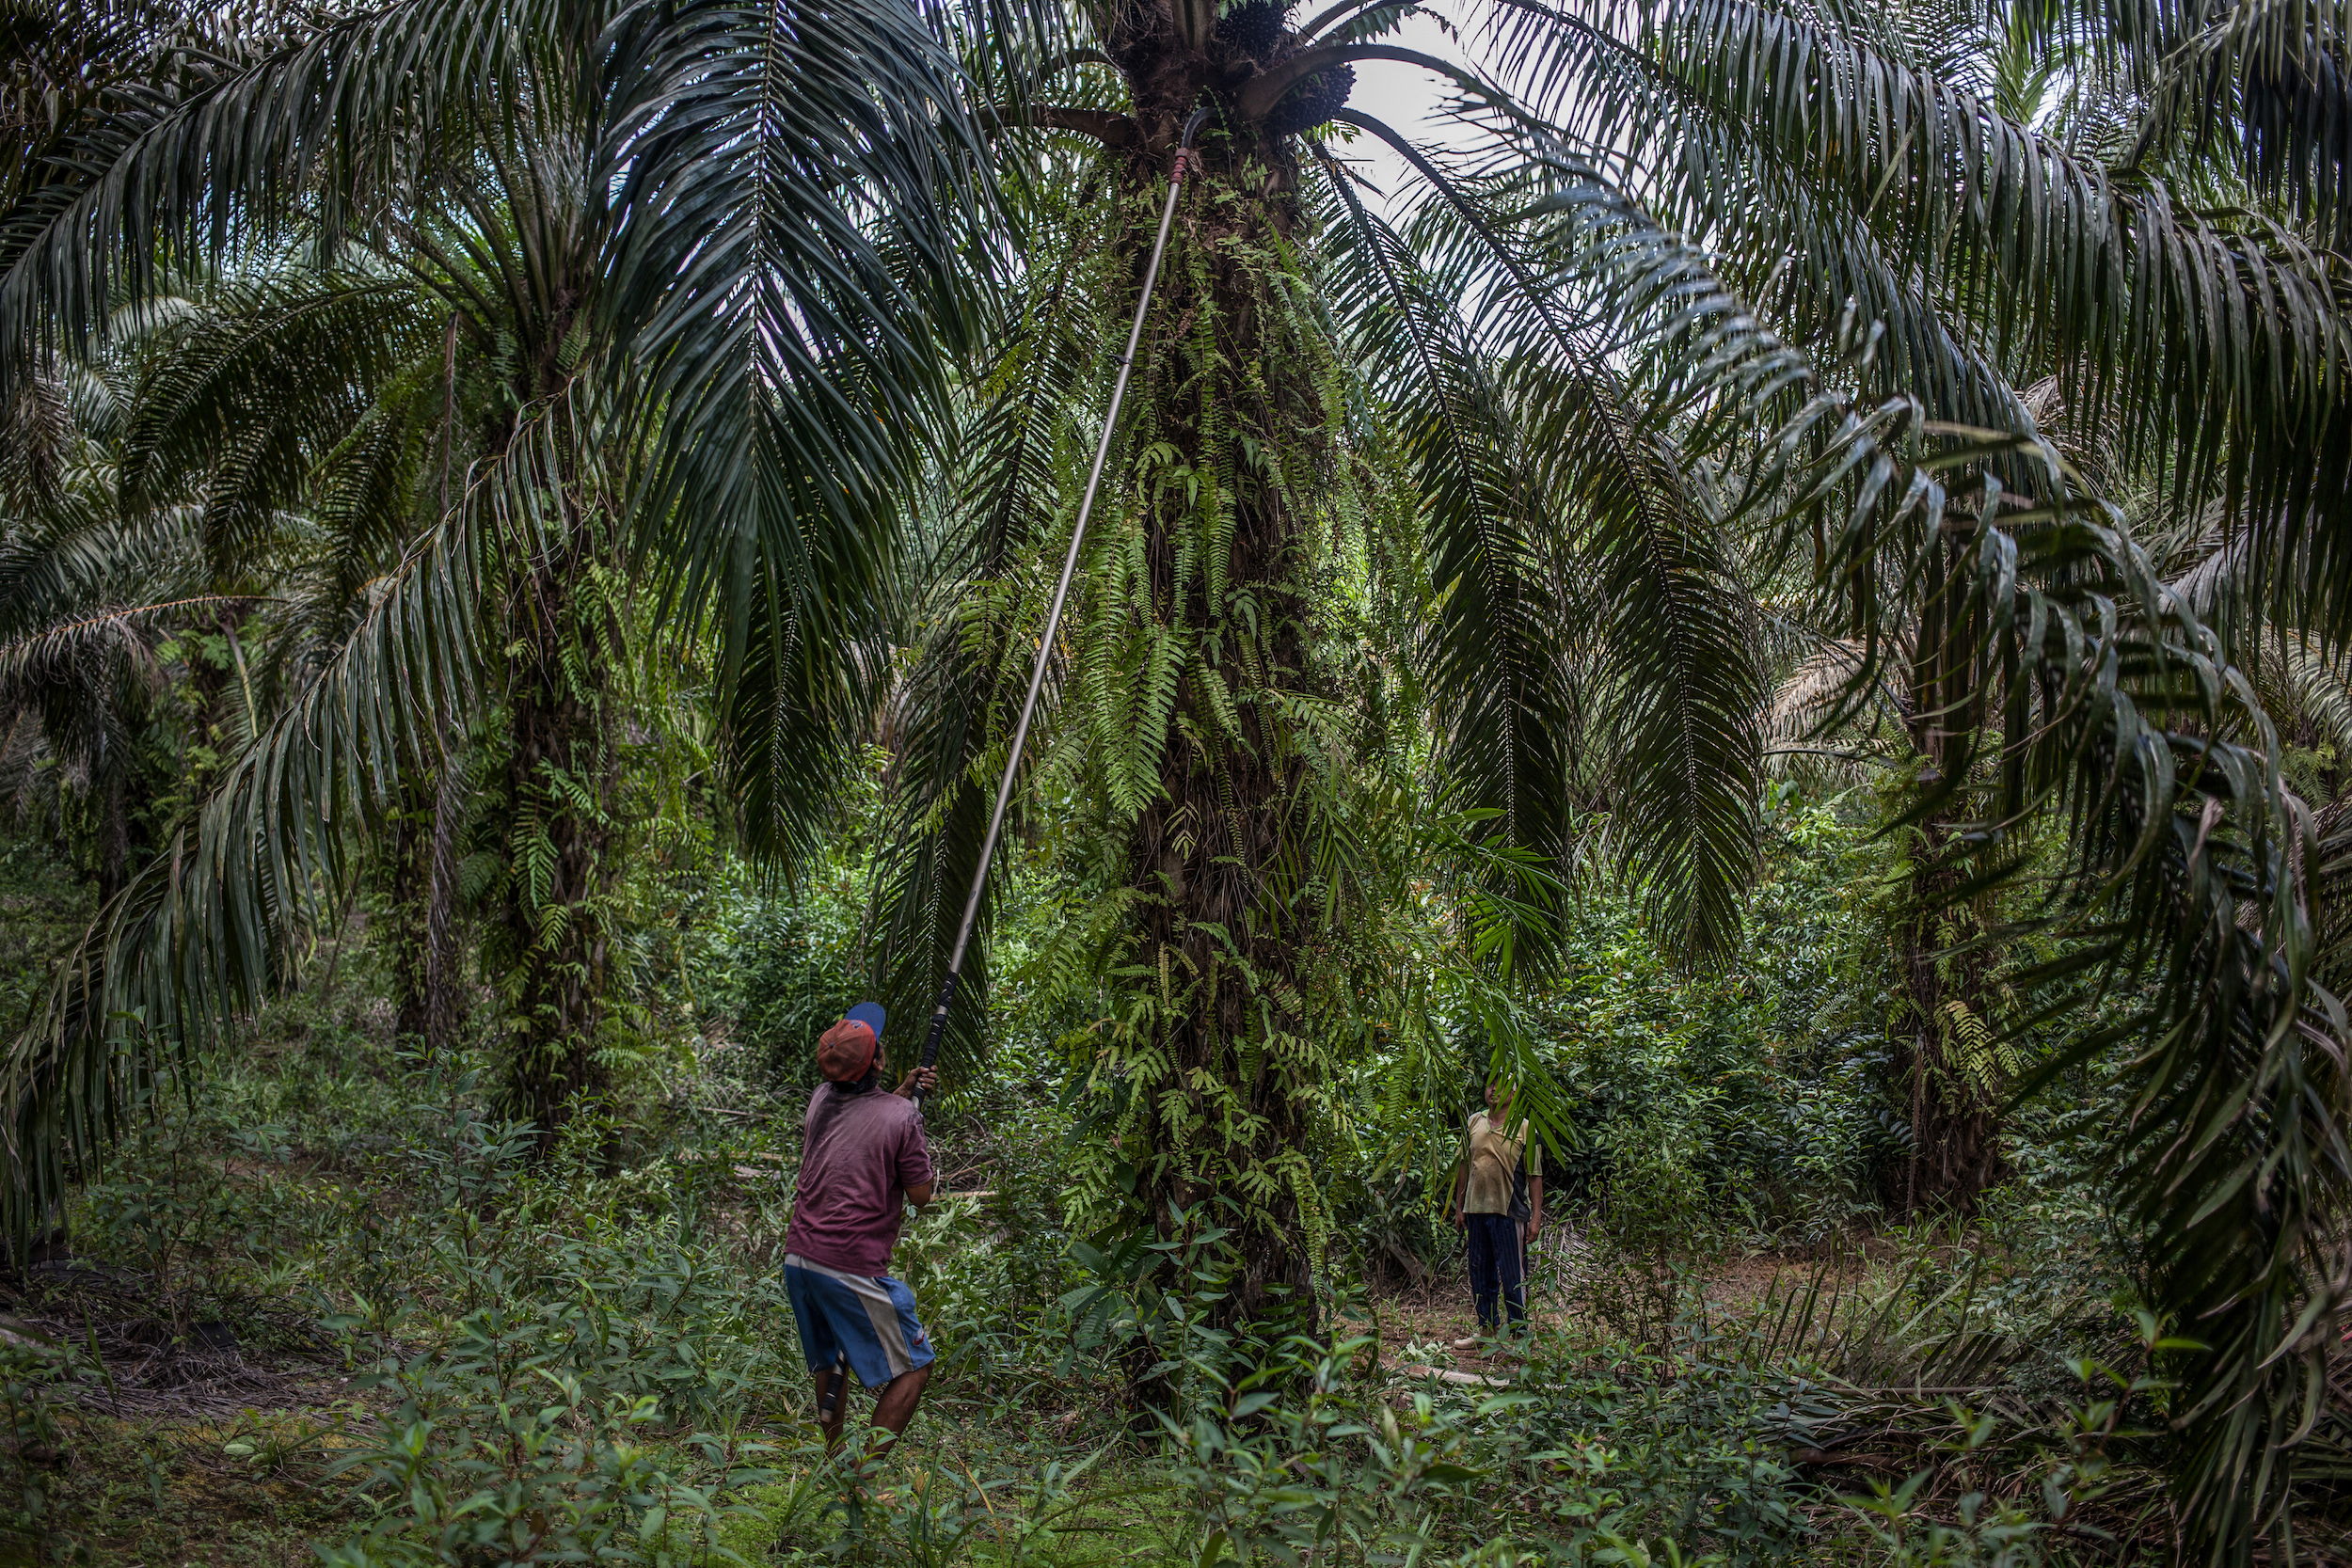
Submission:
<svg viewBox="0 0 2352 1568">
<path fill-rule="evenodd" d="M 1129 179 L 1131 212 L 1155 195 L 1150 169 Z M 1310 1328 L 1362 966 L 1319 875 L 1350 762 L 1315 722 L 1341 400 L 1296 228 L 1284 150 L 1214 141 L 1138 367 L 1131 503 L 1089 543 L 1082 766 L 1127 849 L 1082 1180 L 1105 1222 L 1228 1232 L 1214 1319 Z"/>
</svg>

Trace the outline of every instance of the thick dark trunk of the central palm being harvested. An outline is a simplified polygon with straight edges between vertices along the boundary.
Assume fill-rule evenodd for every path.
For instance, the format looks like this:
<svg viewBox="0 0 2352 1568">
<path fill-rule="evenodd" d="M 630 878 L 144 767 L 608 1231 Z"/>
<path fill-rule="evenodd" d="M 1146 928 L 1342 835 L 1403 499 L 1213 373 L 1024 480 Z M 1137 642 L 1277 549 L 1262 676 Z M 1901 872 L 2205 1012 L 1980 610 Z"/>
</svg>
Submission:
<svg viewBox="0 0 2352 1568">
<path fill-rule="evenodd" d="M 1131 449 L 1167 442 L 1190 468 L 1190 484 L 1141 498 L 1148 588 L 1129 607 L 1129 630 L 1167 637 L 1178 661 L 1160 792 L 1127 853 L 1136 959 L 1164 976 L 1167 997 L 1129 1147 L 1143 1152 L 1138 1199 L 1162 1239 L 1230 1232 L 1235 1274 L 1214 1316 L 1312 1331 L 1319 1058 L 1298 1039 L 1308 856 L 1282 698 L 1312 684 L 1296 487 L 1327 461 L 1329 435 L 1317 355 L 1272 275 L 1296 228 L 1291 181 L 1272 143 L 1211 150 L 1155 306 L 1174 341 L 1129 433 Z M 1160 190 L 1143 169 L 1129 195 L 1143 212 Z"/>
</svg>

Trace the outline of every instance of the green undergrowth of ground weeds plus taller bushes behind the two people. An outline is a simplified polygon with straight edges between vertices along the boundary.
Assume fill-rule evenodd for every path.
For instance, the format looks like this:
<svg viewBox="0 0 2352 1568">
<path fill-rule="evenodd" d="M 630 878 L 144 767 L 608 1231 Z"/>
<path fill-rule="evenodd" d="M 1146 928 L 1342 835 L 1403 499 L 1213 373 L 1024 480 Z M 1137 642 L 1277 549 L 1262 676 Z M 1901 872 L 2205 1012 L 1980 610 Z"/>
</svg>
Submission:
<svg viewBox="0 0 2352 1568">
<path fill-rule="evenodd" d="M 151 1084 L 9 1276 L 0 1556 L 2161 1561 L 2183 1340 L 2136 1312 L 2100 1197 L 2122 1107 L 2063 1084 L 2011 1117 L 1976 1220 L 1889 1222 L 1858 835 L 1804 832 L 1766 900 L 1809 957 L 1778 969 L 1677 980 L 1595 907 L 1538 1009 L 1581 1143 L 1536 1328 L 1491 1352 L 1449 1347 L 1468 1293 L 1416 1164 L 1444 1138 L 1428 1105 L 1367 1072 L 1317 1331 L 1254 1340 L 1216 1328 L 1214 1208 L 1183 1244 L 1073 1232 L 1084 1030 L 1063 1001 L 1000 1016 L 993 1074 L 929 1107 L 953 1194 L 894 1267 L 943 1361 L 863 1495 L 814 1443 L 779 1281 L 807 1093 L 779 1041 L 844 985 L 856 877 L 804 891 L 837 907 L 797 926 L 739 898 L 680 987 L 703 1006 L 649 1006 L 668 1044 L 550 1152 L 492 1110 L 487 1048 L 393 1037 L 358 936 Z M 823 940 L 764 959 L 788 926 Z M 2307 1502 L 2326 1540 L 2333 1502 Z"/>
</svg>

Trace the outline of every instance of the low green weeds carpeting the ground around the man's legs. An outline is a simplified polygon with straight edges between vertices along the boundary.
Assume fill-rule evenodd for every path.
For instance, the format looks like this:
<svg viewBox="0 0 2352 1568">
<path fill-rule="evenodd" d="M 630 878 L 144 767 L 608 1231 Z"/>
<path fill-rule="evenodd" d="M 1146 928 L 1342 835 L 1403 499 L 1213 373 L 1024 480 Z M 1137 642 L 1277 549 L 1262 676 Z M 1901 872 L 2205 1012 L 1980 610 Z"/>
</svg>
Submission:
<svg viewBox="0 0 2352 1568">
<path fill-rule="evenodd" d="M 1616 1305 L 1569 1281 L 1510 1385 L 1463 1389 L 1348 1335 L 1216 1328 L 1230 1260 L 1207 1213 L 1185 1244 L 1073 1244 L 1065 1128 L 1035 1098 L 934 1128 L 990 1197 L 908 1232 L 946 1366 L 851 1505 L 807 1443 L 774 1279 L 797 1105 L 736 1084 L 706 1119 L 708 1086 L 673 1088 L 659 1138 L 581 1126 L 529 1161 L 480 1060 L 350 1018 L 169 1086 L 73 1215 L 82 1255 L 28 1295 L 56 1331 L 0 1356 L 24 1540 L 94 1561 L 1566 1568 L 2023 1566 L 2161 1535 L 2161 1335 L 2084 1265 L 2096 1215 L 2091 1241 L 2044 1246 L 2020 1204 L 1726 1305 L 1675 1244 L 1712 1201 L 1703 1161 L 1625 1138 L 1649 1164 L 1585 1258 L 1628 1269 Z M 61 1302 L 89 1302 L 103 1359 Z M 176 1349 L 115 1389 L 134 1321 Z M 207 1349 L 207 1324 L 238 1349 Z M 268 1371 L 280 1401 L 195 1408 L 162 1382 L 214 1363 Z M 1131 1375 L 1164 1394 L 1141 1429 Z"/>
</svg>

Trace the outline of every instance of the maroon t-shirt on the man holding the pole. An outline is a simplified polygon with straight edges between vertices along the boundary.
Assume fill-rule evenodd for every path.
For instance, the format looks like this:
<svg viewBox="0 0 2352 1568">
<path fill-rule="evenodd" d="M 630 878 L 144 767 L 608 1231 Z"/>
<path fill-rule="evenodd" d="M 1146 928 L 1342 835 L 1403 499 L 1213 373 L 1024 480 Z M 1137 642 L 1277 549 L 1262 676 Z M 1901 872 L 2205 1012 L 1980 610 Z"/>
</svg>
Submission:
<svg viewBox="0 0 2352 1568">
<path fill-rule="evenodd" d="M 887 1274 L 906 1190 L 931 1180 L 922 1112 L 887 1088 L 844 1095 L 821 1084 L 802 1124 L 800 1182 L 783 1251 L 844 1274 Z"/>
</svg>

